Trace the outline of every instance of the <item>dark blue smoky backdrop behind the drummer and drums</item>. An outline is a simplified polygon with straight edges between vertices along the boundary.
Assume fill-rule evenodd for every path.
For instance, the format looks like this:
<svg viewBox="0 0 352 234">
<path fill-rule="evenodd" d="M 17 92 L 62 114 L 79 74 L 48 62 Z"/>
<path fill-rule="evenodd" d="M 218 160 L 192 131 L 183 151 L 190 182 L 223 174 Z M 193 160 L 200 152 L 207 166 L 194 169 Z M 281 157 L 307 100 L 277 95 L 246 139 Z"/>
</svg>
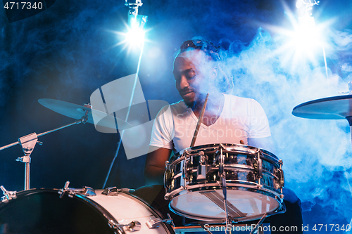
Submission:
<svg viewBox="0 0 352 234">
<path fill-rule="evenodd" d="M 6 1 L 4 0 L 4 4 Z M 139 51 L 122 50 L 113 31 L 125 32 L 125 1 L 46 1 L 37 12 L 6 11 L 0 4 L 0 146 L 73 122 L 38 103 L 40 98 L 89 103 L 100 86 L 137 70 Z M 303 203 L 303 222 L 346 226 L 352 219 L 351 136 L 346 120 L 299 119 L 294 106 L 348 91 L 351 80 L 351 1 L 322 0 L 313 6 L 327 32 L 315 61 L 282 48 L 282 28 L 293 30 L 295 1 L 143 1 L 148 15 L 139 80 L 146 100 L 175 103 L 172 60 L 182 41 L 206 37 L 227 49 L 237 84 L 234 94 L 255 98 L 267 112 L 287 187 Z M 327 23 L 328 22 L 328 23 Z M 242 51 L 242 53 L 241 53 Z M 268 56 L 270 55 L 270 56 Z M 239 61 L 242 61 L 241 63 Z M 236 63 L 235 63 L 236 62 Z M 230 69 L 229 66 L 233 67 Z M 31 188 L 101 188 L 120 136 L 78 124 L 42 136 L 32 153 Z M 19 145 L 0 151 L 0 184 L 23 190 Z M 145 155 L 127 160 L 123 147 L 106 186 L 144 186 Z M 310 228 L 311 229 L 311 228 Z M 312 231 L 312 230 L 310 230 Z M 341 230 L 340 230 L 341 231 Z M 313 231 L 312 231 L 313 232 Z"/>
</svg>

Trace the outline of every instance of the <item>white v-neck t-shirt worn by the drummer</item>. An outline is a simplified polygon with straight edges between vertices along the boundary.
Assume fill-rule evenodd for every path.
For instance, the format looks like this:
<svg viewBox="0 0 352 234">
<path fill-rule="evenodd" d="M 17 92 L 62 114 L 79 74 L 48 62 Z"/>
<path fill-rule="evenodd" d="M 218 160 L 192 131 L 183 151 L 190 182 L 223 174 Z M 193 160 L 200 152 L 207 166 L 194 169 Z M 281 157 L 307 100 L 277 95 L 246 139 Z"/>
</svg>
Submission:
<svg viewBox="0 0 352 234">
<path fill-rule="evenodd" d="M 224 96 L 220 117 L 210 126 L 201 124 L 194 146 L 213 143 L 239 144 L 240 140 L 247 144 L 248 138 L 271 135 L 268 118 L 256 100 L 227 94 Z M 197 122 L 198 118 L 183 100 L 167 105 L 154 120 L 150 145 L 168 148 L 174 152 L 189 148 Z"/>
</svg>

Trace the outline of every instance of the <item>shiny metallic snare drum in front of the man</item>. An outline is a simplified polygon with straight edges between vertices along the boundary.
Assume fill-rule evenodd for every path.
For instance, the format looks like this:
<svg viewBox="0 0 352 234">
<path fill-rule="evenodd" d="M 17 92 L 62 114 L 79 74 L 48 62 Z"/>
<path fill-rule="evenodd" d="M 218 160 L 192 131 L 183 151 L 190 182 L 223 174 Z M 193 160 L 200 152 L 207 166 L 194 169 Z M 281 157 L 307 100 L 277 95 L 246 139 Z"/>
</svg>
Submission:
<svg viewBox="0 0 352 234">
<path fill-rule="evenodd" d="M 165 199 L 181 216 L 217 222 L 230 216 L 236 222 L 284 212 L 282 160 L 266 150 L 200 145 L 178 152 L 166 168 Z"/>
</svg>

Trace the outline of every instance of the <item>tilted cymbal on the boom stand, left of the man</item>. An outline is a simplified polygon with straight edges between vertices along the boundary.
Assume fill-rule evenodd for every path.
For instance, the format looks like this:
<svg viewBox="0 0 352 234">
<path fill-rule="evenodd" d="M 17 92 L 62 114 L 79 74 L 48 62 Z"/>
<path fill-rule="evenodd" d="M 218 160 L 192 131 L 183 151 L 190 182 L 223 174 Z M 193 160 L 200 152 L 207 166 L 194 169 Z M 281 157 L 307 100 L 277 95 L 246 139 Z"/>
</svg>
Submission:
<svg viewBox="0 0 352 234">
<path fill-rule="evenodd" d="M 115 118 L 112 115 L 107 115 L 105 112 L 87 108 L 82 105 L 76 105 L 73 103 L 64 102 L 62 100 L 54 100 L 49 98 L 39 99 L 38 102 L 44 105 L 44 107 L 49 108 L 50 110 L 54 110 L 54 112 L 73 119 L 81 119 L 85 112 L 88 111 L 87 122 L 90 124 L 94 124 L 94 119 L 96 119 L 96 121 L 99 120 L 98 123 L 95 123 L 96 125 L 111 129 L 123 130 L 132 127 L 131 124 L 125 122 L 122 119 Z M 117 126 L 115 124 L 115 120 L 117 122 Z"/>
</svg>

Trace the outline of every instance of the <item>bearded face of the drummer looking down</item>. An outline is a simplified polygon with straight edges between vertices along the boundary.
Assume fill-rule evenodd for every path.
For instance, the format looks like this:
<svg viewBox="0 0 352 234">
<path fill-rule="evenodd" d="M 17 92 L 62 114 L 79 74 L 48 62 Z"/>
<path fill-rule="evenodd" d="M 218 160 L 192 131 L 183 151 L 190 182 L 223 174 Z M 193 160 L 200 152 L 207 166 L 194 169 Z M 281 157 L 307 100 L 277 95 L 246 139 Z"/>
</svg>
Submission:
<svg viewBox="0 0 352 234">
<path fill-rule="evenodd" d="M 203 51 L 186 51 L 175 58 L 172 73 L 176 89 L 188 107 L 205 99 L 210 85 L 211 68 Z"/>
</svg>

